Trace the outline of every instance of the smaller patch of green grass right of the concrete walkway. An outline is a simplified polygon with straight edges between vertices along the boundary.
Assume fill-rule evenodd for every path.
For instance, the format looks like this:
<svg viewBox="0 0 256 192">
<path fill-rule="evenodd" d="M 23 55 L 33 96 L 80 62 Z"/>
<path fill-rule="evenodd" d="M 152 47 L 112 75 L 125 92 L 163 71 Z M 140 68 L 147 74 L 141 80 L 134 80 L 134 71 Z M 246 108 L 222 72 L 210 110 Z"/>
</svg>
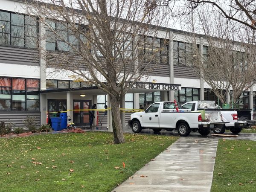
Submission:
<svg viewBox="0 0 256 192">
<path fill-rule="evenodd" d="M 219 140 L 212 192 L 256 191 L 256 141 Z"/>
</svg>

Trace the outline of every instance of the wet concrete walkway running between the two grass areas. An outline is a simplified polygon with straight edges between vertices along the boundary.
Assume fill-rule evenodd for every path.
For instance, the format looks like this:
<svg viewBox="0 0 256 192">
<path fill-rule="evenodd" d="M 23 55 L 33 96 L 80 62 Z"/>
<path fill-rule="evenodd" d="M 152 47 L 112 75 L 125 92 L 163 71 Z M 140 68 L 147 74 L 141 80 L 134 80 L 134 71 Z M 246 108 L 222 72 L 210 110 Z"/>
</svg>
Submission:
<svg viewBox="0 0 256 192">
<path fill-rule="evenodd" d="M 217 144 L 216 139 L 181 137 L 113 192 L 209 192 Z"/>
</svg>

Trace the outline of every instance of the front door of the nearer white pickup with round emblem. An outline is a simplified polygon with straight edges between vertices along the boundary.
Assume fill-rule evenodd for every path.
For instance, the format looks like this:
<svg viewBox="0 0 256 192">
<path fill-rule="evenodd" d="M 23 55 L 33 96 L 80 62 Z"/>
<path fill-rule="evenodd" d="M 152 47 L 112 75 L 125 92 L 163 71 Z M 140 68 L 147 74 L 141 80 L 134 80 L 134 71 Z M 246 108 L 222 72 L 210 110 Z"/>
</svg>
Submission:
<svg viewBox="0 0 256 192">
<path fill-rule="evenodd" d="M 159 105 L 160 103 L 154 103 L 147 109 L 147 113 L 143 114 L 144 127 L 157 128 L 159 126 Z"/>
</svg>

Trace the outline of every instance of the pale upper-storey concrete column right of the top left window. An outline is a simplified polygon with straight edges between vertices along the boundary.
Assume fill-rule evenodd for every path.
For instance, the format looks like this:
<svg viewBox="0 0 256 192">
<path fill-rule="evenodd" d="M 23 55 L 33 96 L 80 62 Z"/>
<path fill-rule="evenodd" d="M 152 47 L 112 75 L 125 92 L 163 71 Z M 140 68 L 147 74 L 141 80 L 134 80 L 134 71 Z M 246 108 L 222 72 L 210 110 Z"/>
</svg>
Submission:
<svg viewBox="0 0 256 192">
<path fill-rule="evenodd" d="M 40 89 L 46 90 L 46 60 L 45 60 L 45 26 L 39 22 L 39 64 L 40 64 Z"/>
</svg>

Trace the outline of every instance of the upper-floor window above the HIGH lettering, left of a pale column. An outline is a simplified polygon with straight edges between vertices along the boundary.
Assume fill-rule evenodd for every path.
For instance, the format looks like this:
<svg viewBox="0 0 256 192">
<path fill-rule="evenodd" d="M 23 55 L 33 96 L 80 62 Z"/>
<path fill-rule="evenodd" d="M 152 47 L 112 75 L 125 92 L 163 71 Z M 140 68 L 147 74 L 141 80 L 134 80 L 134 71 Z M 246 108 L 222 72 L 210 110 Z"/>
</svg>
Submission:
<svg viewBox="0 0 256 192">
<path fill-rule="evenodd" d="M 166 39 L 145 37 L 139 46 L 139 61 L 168 63 L 169 41 Z"/>
</svg>

